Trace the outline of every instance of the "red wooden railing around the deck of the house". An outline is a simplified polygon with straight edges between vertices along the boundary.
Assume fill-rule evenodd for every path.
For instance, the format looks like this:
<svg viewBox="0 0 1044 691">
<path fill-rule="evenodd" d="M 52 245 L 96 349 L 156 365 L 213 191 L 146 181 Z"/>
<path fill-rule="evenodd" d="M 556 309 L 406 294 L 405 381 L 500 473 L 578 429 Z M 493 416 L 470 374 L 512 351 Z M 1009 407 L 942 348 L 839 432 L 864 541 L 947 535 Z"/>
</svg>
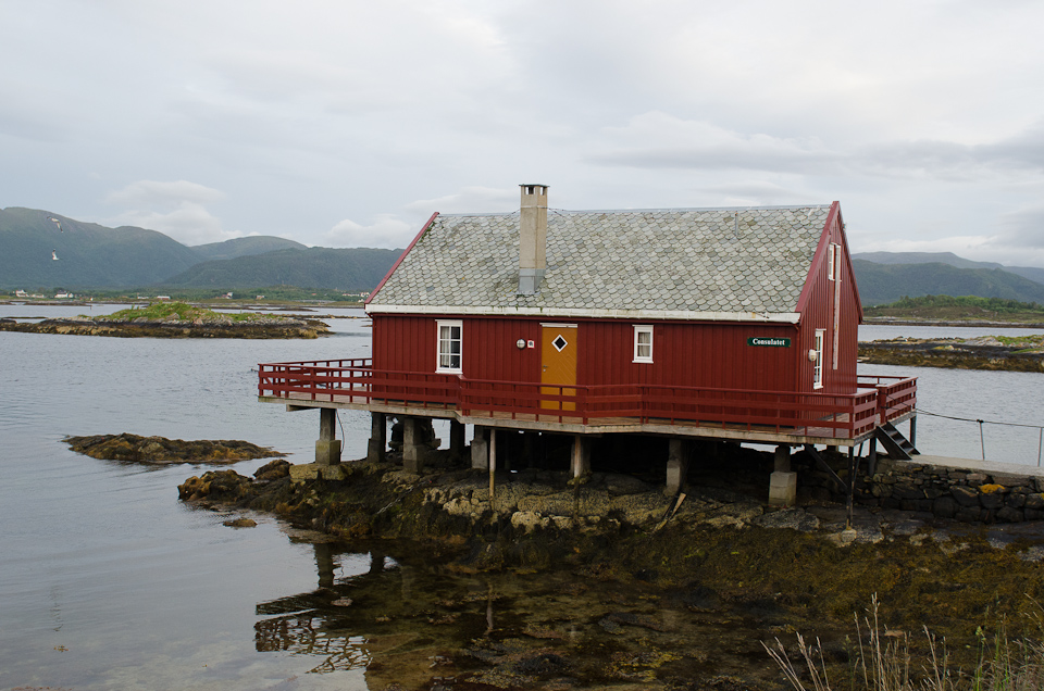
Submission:
<svg viewBox="0 0 1044 691">
<path fill-rule="evenodd" d="M 455 410 L 470 417 L 584 425 L 684 424 L 855 439 L 911 413 L 917 379 L 860 376 L 855 393 L 557 386 L 375 370 L 369 359 L 356 359 L 261 364 L 258 394 L 288 401 Z"/>
</svg>

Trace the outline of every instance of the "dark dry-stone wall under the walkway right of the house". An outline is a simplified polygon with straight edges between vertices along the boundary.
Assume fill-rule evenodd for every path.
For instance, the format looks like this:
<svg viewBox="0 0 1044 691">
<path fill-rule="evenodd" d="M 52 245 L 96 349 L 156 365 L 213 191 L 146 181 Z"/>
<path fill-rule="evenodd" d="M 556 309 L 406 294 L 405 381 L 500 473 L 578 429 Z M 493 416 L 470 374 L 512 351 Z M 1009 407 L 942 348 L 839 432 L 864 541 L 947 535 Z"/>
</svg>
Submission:
<svg viewBox="0 0 1044 691">
<path fill-rule="evenodd" d="M 798 498 L 845 501 L 830 475 L 806 460 L 798 472 Z M 845 478 L 847 460 L 835 456 L 831 466 Z M 1030 467 L 1026 474 L 993 469 L 990 464 L 960 468 L 915 461 L 879 461 L 873 475 L 866 463 L 856 476 L 855 501 L 869 506 L 932 513 L 965 523 L 1020 523 L 1044 518 L 1044 476 Z"/>
</svg>

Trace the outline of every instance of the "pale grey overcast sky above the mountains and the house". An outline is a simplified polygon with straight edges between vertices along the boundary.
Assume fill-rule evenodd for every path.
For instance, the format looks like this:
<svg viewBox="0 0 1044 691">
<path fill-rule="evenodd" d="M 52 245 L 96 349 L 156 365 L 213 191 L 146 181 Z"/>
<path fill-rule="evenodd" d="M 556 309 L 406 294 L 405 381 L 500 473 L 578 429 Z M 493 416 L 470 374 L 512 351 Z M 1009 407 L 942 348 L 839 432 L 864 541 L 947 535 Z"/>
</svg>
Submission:
<svg viewBox="0 0 1044 691">
<path fill-rule="evenodd" d="M 828 203 L 1044 266 L 1044 2 L 0 0 L 0 206 L 405 247 L 435 211 Z"/>
</svg>

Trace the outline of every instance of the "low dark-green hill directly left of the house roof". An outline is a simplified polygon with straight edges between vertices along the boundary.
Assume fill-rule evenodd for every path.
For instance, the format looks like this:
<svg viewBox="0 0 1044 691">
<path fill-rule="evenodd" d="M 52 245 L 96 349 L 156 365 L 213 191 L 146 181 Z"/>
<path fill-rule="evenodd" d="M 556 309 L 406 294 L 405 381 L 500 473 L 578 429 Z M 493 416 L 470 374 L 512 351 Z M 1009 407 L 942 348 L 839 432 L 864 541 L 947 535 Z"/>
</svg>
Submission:
<svg viewBox="0 0 1044 691">
<path fill-rule="evenodd" d="M 401 253 L 402 250 L 369 248 L 291 248 L 203 262 L 167 279 L 164 286 L 244 289 L 278 285 L 373 290 Z"/>
</svg>

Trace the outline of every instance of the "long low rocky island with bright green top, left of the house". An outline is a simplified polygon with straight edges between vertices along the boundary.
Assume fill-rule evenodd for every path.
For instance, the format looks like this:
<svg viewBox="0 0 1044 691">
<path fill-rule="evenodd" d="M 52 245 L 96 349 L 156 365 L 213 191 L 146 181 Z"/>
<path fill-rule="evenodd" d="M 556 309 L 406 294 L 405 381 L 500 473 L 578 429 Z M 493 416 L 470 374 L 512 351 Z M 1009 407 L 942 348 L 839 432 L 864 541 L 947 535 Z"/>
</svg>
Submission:
<svg viewBox="0 0 1044 691">
<path fill-rule="evenodd" d="M 0 330 L 123 338 L 318 338 L 330 327 L 318 319 L 273 314 L 220 313 L 184 302 L 154 302 L 112 314 L 41 322 L 0 319 Z"/>
</svg>

